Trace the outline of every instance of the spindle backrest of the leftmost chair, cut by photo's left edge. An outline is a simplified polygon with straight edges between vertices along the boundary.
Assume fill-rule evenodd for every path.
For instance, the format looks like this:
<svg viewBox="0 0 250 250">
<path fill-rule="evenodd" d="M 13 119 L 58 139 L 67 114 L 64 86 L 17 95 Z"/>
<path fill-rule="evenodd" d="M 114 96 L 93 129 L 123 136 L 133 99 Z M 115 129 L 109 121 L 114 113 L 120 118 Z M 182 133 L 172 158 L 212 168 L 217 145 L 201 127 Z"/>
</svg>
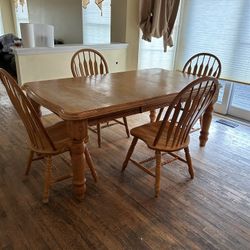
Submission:
<svg viewBox="0 0 250 250">
<path fill-rule="evenodd" d="M 31 147 L 36 152 L 47 153 L 56 150 L 47 131 L 27 96 L 18 86 L 16 80 L 4 69 L 0 68 L 2 81 L 8 96 L 27 130 Z"/>
</svg>

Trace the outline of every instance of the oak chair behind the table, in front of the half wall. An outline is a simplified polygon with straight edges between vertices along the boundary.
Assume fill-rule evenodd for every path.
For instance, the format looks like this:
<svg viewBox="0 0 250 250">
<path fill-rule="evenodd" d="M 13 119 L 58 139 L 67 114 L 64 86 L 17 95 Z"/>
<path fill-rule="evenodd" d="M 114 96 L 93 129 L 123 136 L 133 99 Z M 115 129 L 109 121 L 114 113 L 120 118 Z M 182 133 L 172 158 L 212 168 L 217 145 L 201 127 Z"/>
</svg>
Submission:
<svg viewBox="0 0 250 250">
<path fill-rule="evenodd" d="M 71 72 L 73 77 L 87 77 L 92 75 L 107 74 L 109 72 L 108 64 L 104 56 L 94 49 L 81 49 L 78 50 L 71 59 Z M 98 101 L 98 100 L 97 100 Z M 127 137 L 130 136 L 127 118 L 123 117 L 123 121 L 118 119 L 112 119 L 107 123 L 97 123 L 96 129 L 93 129 L 93 124 L 89 126 L 89 129 L 97 133 L 98 146 L 101 147 L 101 129 L 120 124 L 125 127 Z"/>
</svg>

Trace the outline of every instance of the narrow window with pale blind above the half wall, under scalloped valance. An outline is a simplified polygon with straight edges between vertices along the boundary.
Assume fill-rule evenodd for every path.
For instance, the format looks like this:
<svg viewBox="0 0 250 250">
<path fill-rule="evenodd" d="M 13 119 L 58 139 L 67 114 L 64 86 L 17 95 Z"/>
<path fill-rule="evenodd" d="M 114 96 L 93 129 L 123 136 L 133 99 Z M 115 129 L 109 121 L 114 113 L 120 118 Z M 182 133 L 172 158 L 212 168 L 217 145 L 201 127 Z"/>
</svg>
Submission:
<svg viewBox="0 0 250 250">
<path fill-rule="evenodd" d="M 94 1 L 83 9 L 83 43 L 110 43 L 111 0 L 102 3 L 102 13 Z"/>
</svg>

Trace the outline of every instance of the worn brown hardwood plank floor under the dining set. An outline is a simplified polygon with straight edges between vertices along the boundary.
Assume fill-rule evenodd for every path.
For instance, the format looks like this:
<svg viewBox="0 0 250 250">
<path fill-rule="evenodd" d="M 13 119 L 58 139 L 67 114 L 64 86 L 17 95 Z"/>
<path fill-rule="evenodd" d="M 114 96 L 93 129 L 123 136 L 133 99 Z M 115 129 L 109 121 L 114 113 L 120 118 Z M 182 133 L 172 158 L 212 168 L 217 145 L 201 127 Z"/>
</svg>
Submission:
<svg viewBox="0 0 250 250">
<path fill-rule="evenodd" d="M 230 128 L 216 119 L 205 148 L 198 146 L 199 133 L 192 134 L 194 180 L 184 163 L 169 164 L 158 199 L 152 177 L 132 164 L 121 174 L 131 138 L 114 126 L 102 130 L 101 149 L 90 132 L 99 182 L 87 172 L 84 201 L 72 199 L 66 181 L 44 205 L 43 164 L 33 163 L 24 177 L 25 131 L 0 87 L 0 248 L 250 249 L 250 127 Z M 128 118 L 130 127 L 147 120 Z M 148 154 L 140 143 L 135 157 Z M 56 172 L 66 170 L 60 158 L 54 163 Z"/>
</svg>

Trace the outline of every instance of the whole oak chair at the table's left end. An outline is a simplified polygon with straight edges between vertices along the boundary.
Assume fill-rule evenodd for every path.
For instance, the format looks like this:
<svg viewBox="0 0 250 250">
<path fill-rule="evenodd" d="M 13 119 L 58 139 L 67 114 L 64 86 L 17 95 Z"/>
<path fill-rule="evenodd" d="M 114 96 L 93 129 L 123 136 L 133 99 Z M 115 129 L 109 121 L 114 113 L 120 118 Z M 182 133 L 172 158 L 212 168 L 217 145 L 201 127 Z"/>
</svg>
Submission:
<svg viewBox="0 0 250 250">
<path fill-rule="evenodd" d="M 57 122 L 49 127 L 43 125 L 31 102 L 18 86 L 16 80 L 4 69 L 0 69 L 0 80 L 28 134 L 30 156 L 25 174 L 29 174 L 32 161 L 40 159 L 46 160 L 43 202 L 47 203 L 51 185 L 72 177 L 72 174 L 69 173 L 65 176 L 52 178 L 51 160 L 52 156 L 70 152 L 72 140 L 67 136 L 67 129 L 63 121 Z M 84 153 L 91 174 L 94 180 L 97 181 L 97 174 L 87 148 Z M 34 158 L 35 155 L 36 157 Z"/>
</svg>

